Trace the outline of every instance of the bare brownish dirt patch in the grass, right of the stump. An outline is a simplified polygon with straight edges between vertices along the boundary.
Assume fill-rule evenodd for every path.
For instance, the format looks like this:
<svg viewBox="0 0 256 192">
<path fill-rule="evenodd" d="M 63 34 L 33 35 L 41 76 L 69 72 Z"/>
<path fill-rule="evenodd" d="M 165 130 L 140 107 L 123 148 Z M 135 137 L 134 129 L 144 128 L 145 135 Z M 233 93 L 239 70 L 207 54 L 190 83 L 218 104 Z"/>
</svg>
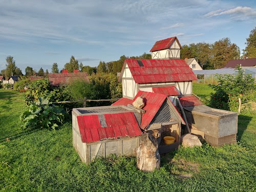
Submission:
<svg viewBox="0 0 256 192">
<path fill-rule="evenodd" d="M 170 163 L 172 164 L 172 169 L 170 170 L 170 172 L 180 177 L 181 179 L 191 178 L 193 177 L 193 175 L 200 172 L 199 164 L 192 163 L 184 159 L 172 159 Z"/>
</svg>

